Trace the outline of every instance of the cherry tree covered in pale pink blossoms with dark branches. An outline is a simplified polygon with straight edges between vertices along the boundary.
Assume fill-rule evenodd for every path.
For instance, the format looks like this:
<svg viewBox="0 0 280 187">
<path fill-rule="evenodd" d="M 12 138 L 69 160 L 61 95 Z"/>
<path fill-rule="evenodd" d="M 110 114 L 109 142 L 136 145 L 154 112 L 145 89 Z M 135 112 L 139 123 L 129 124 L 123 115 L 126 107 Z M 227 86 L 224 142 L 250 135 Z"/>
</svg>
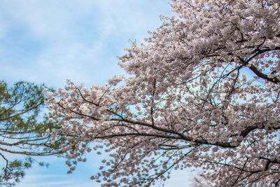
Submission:
<svg viewBox="0 0 280 187">
<path fill-rule="evenodd" d="M 186 167 L 204 169 L 197 185 L 279 186 L 280 1 L 171 6 L 176 16 L 120 57 L 130 76 L 47 92 L 69 172 L 93 148 L 109 154 L 92 176 L 103 186 L 150 186 Z"/>
</svg>

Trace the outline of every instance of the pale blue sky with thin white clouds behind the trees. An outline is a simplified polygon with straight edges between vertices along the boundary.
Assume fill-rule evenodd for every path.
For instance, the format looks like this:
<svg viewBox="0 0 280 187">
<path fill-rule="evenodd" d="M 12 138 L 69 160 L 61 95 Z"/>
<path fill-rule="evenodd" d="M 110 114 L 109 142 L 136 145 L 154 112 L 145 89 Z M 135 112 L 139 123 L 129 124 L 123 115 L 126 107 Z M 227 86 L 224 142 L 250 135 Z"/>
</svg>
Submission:
<svg viewBox="0 0 280 187">
<path fill-rule="evenodd" d="M 160 26 L 159 15 L 172 15 L 167 0 L 1 0 L 0 80 L 45 83 L 64 87 L 102 85 L 116 74 L 118 56 L 131 41 L 141 42 Z M 50 167 L 34 165 L 18 186 L 99 186 L 90 180 L 99 158 L 87 155 L 73 174 L 64 158 L 36 158 Z M 190 169 L 176 171 L 167 186 L 188 186 Z"/>
</svg>

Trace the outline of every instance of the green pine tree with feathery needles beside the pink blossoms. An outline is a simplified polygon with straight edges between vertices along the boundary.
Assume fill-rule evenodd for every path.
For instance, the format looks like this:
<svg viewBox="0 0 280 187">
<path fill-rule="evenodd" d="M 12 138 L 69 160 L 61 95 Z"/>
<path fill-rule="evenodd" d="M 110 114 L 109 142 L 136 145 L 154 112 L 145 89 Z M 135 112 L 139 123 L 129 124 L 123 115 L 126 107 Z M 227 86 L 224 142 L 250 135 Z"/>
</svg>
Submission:
<svg viewBox="0 0 280 187">
<path fill-rule="evenodd" d="M 3 165 L 0 186 L 13 186 L 31 167 L 32 155 L 55 155 L 62 153 L 59 144 L 63 139 L 51 138 L 50 129 L 55 122 L 43 115 L 44 85 L 18 82 L 8 87 L 0 81 L 0 158 Z M 51 144 L 52 143 L 52 144 Z M 25 158 L 22 159 L 22 156 Z M 39 162 L 39 165 L 45 165 Z"/>
</svg>

